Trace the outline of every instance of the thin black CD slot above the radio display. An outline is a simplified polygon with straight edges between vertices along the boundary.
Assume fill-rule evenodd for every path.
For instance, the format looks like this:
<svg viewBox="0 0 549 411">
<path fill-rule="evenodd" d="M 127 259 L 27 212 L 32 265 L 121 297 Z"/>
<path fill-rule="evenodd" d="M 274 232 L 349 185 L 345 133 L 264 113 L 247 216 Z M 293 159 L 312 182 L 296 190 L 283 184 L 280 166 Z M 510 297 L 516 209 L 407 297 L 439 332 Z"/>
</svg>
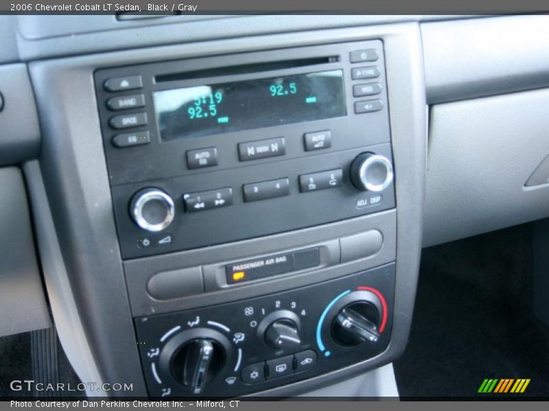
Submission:
<svg viewBox="0 0 549 411">
<path fill-rule="evenodd" d="M 156 83 L 176 82 L 179 80 L 198 79 L 202 77 L 218 77 L 222 75 L 237 75 L 247 73 L 259 73 L 261 71 L 294 69 L 296 67 L 317 66 L 319 64 L 335 63 L 338 61 L 338 55 L 329 55 L 325 57 L 301 58 L 297 60 L 239 64 L 237 66 L 215 67 L 215 69 L 157 75 L 156 77 L 154 77 L 154 80 L 156 81 Z"/>
</svg>

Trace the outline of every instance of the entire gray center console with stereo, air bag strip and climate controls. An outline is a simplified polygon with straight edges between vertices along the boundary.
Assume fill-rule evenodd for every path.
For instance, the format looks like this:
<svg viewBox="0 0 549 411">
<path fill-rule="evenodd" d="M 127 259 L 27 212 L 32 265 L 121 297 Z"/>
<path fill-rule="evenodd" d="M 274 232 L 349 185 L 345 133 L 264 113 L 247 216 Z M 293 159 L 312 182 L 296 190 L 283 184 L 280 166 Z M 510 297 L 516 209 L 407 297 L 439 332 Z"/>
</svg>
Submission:
<svg viewBox="0 0 549 411">
<path fill-rule="evenodd" d="M 75 369 L 132 395 L 234 397 L 391 362 L 421 247 L 417 25 L 215 44 L 30 66 L 82 296 L 60 338 L 89 343 Z"/>
</svg>

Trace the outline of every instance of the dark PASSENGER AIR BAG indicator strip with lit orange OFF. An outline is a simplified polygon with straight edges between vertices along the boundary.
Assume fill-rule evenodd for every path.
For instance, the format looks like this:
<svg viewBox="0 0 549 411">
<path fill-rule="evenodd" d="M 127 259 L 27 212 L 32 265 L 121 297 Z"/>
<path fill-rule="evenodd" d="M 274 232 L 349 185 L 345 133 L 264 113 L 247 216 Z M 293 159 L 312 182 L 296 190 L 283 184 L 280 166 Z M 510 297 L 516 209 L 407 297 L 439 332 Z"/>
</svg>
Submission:
<svg viewBox="0 0 549 411">
<path fill-rule="evenodd" d="M 320 264 L 320 254 L 317 247 L 228 264 L 225 266 L 225 273 L 227 283 L 235 284 L 250 279 L 308 269 L 318 264 Z"/>
</svg>

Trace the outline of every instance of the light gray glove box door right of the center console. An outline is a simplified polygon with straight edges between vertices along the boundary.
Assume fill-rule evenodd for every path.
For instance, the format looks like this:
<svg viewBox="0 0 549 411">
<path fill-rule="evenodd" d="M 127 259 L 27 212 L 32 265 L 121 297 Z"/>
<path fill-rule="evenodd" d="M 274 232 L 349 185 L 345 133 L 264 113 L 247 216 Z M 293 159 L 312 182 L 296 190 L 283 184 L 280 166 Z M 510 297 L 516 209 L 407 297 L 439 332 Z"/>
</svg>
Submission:
<svg viewBox="0 0 549 411">
<path fill-rule="evenodd" d="M 549 216 L 549 184 L 526 187 L 549 154 L 549 89 L 434 105 L 424 246 Z"/>
</svg>

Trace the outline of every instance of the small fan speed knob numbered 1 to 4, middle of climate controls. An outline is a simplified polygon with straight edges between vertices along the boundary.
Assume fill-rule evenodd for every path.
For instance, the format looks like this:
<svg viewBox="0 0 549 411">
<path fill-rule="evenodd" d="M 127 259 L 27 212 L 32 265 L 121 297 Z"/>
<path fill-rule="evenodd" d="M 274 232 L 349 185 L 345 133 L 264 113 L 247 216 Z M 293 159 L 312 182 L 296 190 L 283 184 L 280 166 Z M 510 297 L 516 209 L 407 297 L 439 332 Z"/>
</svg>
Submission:
<svg viewBox="0 0 549 411">
<path fill-rule="evenodd" d="M 301 345 L 299 317 L 292 311 L 279 310 L 266 316 L 257 327 L 258 334 L 274 349 L 294 349 Z"/>
</svg>

